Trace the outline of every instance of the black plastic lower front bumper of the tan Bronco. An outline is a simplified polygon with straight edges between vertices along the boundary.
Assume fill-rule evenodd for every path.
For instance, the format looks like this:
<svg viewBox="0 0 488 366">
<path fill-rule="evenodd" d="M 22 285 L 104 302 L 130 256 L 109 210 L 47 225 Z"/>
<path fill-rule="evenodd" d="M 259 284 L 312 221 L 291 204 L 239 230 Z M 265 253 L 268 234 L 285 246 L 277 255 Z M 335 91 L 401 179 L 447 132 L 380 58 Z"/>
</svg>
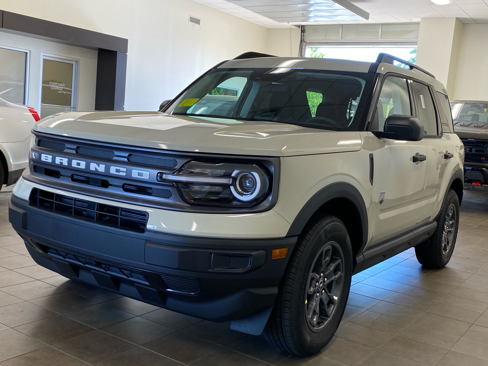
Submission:
<svg viewBox="0 0 488 366">
<path fill-rule="evenodd" d="M 297 240 L 138 233 L 46 211 L 15 195 L 9 221 L 32 258 L 50 270 L 215 322 L 272 306 Z M 288 255 L 271 259 L 271 249 L 281 247 L 289 247 Z M 249 265 L 236 270 L 243 258 L 250 258 Z"/>
</svg>

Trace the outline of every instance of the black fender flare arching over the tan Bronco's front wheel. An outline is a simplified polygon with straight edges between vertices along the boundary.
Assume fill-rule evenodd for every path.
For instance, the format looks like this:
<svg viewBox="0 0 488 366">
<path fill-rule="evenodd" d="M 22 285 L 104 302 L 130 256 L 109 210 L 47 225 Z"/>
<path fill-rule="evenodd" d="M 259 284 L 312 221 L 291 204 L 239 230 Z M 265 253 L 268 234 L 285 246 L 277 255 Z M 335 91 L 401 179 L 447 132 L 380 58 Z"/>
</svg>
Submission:
<svg viewBox="0 0 488 366">
<path fill-rule="evenodd" d="M 302 207 L 298 215 L 293 220 L 288 233 L 286 236 L 296 236 L 300 235 L 304 229 L 306 223 L 313 214 L 326 202 L 334 198 L 345 198 L 350 201 L 357 209 L 359 217 L 361 218 L 361 247 L 359 253 L 363 251 L 366 246 L 367 236 L 368 236 L 368 216 L 366 210 L 366 204 L 364 202 L 363 196 L 359 190 L 350 183 L 337 182 L 332 183 L 317 193 L 315 193 L 312 198 L 308 200 L 307 203 Z"/>
</svg>

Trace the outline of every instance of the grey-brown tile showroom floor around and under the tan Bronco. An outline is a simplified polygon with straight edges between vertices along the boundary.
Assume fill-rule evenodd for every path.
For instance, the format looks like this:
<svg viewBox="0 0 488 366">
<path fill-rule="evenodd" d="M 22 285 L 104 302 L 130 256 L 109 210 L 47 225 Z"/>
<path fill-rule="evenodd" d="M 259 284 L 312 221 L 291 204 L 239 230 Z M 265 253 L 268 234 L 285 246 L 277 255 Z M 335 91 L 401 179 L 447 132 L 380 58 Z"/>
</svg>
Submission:
<svg viewBox="0 0 488 366">
<path fill-rule="evenodd" d="M 488 365 L 488 192 L 465 190 L 454 256 L 412 249 L 355 275 L 330 344 L 290 356 L 262 336 L 81 285 L 34 263 L 0 192 L 0 365 Z"/>
</svg>

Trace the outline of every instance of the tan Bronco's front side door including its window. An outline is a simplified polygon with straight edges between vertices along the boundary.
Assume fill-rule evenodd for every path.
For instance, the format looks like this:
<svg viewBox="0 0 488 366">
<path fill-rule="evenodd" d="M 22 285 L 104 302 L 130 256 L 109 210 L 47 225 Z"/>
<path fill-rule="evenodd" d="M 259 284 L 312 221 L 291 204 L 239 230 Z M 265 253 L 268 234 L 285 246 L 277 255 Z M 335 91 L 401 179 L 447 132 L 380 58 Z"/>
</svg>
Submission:
<svg viewBox="0 0 488 366">
<path fill-rule="evenodd" d="M 407 82 L 396 76 L 385 78 L 372 130 L 383 131 L 386 118 L 393 114 L 412 115 Z M 427 148 L 423 141 L 379 139 L 370 132 L 368 134 L 374 162 L 372 244 L 375 244 L 427 221 L 427 213 L 422 207 L 427 163 L 421 160 L 427 155 Z"/>
</svg>

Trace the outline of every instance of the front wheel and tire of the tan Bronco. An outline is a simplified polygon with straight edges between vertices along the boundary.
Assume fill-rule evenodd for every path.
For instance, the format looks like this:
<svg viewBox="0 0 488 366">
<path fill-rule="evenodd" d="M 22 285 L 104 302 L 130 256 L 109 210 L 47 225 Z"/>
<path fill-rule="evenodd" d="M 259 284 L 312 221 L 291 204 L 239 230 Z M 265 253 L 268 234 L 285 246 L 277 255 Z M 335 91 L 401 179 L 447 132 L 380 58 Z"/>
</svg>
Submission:
<svg viewBox="0 0 488 366">
<path fill-rule="evenodd" d="M 311 220 L 300 235 L 278 286 L 275 305 L 263 331 L 266 340 L 300 356 L 324 348 L 344 314 L 351 272 L 351 243 L 341 220 L 326 214 Z"/>
</svg>

